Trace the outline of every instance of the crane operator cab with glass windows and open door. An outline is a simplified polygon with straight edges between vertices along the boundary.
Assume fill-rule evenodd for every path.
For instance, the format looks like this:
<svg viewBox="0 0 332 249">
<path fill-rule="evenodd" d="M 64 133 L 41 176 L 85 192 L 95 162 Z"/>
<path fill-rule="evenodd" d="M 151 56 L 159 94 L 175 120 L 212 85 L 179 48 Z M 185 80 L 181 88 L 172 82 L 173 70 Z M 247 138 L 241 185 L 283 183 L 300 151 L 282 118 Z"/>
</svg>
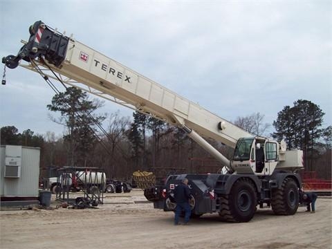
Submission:
<svg viewBox="0 0 332 249">
<path fill-rule="evenodd" d="M 231 161 L 237 174 L 270 175 L 278 163 L 279 144 L 268 138 L 240 138 Z"/>
</svg>

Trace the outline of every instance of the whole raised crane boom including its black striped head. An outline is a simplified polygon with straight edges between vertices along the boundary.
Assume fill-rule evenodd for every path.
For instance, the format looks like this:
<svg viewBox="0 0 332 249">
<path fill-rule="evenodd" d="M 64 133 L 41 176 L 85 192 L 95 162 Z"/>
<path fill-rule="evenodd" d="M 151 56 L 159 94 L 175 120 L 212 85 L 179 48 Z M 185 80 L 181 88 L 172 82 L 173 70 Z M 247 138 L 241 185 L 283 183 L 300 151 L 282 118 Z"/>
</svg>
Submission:
<svg viewBox="0 0 332 249">
<path fill-rule="evenodd" d="M 235 147 L 239 138 L 252 136 L 181 95 L 102 55 L 89 46 L 66 37 L 37 21 L 29 28 L 29 41 L 15 57 L 3 58 L 9 68 L 20 59 L 37 62 L 64 75 L 132 105 L 178 127 L 194 129 L 202 136 Z M 41 60 L 40 58 L 44 58 Z M 46 65 L 47 64 L 47 65 Z M 33 69 L 33 66 L 27 68 Z"/>
</svg>

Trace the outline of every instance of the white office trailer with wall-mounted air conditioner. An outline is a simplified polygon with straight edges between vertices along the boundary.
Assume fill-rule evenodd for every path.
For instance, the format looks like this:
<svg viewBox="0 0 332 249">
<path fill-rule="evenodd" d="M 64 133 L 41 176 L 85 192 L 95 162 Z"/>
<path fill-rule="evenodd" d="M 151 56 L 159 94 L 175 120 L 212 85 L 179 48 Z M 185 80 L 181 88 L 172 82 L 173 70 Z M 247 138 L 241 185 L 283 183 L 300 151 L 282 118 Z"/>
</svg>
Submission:
<svg viewBox="0 0 332 249">
<path fill-rule="evenodd" d="M 0 146 L 1 208 L 31 208 L 38 205 L 38 147 Z"/>
</svg>

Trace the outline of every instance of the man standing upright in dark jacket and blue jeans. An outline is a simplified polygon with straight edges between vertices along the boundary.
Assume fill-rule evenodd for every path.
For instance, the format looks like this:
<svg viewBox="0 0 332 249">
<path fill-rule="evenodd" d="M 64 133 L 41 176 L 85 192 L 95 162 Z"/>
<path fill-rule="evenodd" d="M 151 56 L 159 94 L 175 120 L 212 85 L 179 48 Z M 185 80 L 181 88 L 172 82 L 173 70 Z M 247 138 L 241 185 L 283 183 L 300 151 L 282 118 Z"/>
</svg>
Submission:
<svg viewBox="0 0 332 249">
<path fill-rule="evenodd" d="M 174 199 L 176 201 L 174 225 L 179 224 L 178 219 L 183 210 L 185 211 L 185 223 L 183 225 L 188 225 L 190 214 L 192 214 L 192 210 L 189 204 L 189 200 L 192 199 L 192 196 L 190 194 L 190 188 L 188 187 L 187 178 L 184 178 L 182 183 L 175 187 Z"/>
</svg>

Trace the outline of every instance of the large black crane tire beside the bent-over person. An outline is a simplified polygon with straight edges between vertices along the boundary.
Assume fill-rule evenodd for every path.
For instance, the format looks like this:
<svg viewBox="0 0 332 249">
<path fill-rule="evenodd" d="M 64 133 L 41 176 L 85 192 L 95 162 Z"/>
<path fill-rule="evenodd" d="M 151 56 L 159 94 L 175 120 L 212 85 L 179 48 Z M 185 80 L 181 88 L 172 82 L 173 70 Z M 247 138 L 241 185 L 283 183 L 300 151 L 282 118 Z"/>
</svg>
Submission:
<svg viewBox="0 0 332 249">
<path fill-rule="evenodd" d="M 299 208 L 299 189 L 293 178 L 285 178 L 282 187 L 273 190 L 271 206 L 275 214 L 295 214 Z"/>
</svg>

